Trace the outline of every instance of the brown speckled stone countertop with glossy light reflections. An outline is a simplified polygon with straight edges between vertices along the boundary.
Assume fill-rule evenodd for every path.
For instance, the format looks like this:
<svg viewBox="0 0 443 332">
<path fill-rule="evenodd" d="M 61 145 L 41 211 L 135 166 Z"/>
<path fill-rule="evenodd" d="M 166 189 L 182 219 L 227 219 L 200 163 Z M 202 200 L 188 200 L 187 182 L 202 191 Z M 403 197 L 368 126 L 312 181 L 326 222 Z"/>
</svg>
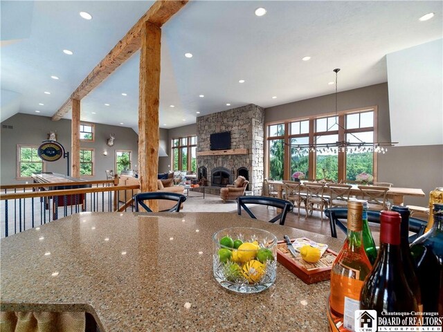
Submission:
<svg viewBox="0 0 443 332">
<path fill-rule="evenodd" d="M 2 311 L 87 311 L 102 331 L 327 331 L 329 282 L 278 264 L 243 295 L 213 277 L 212 235 L 232 226 L 341 241 L 232 213 L 84 212 L 1 240 Z"/>
</svg>

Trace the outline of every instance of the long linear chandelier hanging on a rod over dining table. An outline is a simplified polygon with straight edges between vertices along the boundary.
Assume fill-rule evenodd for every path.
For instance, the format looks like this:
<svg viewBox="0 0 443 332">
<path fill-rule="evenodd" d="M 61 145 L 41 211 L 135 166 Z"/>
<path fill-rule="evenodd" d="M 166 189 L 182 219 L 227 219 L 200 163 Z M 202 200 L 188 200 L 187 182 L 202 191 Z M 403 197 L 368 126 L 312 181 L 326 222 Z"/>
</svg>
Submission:
<svg viewBox="0 0 443 332">
<path fill-rule="evenodd" d="M 332 124 L 327 130 L 331 129 L 334 126 L 340 127 L 345 130 L 343 126 L 338 124 L 338 111 L 337 111 L 337 95 L 338 95 L 338 86 L 337 86 L 337 77 L 338 71 L 340 68 L 335 68 L 335 123 Z M 379 154 L 386 154 L 388 151 L 388 147 L 393 147 L 398 142 L 364 142 L 353 133 L 347 133 L 347 135 L 351 135 L 355 138 L 356 142 L 347 142 L 345 140 L 330 142 L 330 143 L 317 143 L 318 138 L 321 136 L 316 136 L 316 140 L 314 144 L 298 144 L 293 145 L 289 144 L 290 147 L 296 149 L 299 154 L 307 154 L 309 152 L 323 152 L 323 153 L 334 153 L 337 152 L 347 152 L 347 153 L 361 153 L 361 152 L 377 152 Z M 286 144 L 286 143 L 285 143 Z"/>
</svg>

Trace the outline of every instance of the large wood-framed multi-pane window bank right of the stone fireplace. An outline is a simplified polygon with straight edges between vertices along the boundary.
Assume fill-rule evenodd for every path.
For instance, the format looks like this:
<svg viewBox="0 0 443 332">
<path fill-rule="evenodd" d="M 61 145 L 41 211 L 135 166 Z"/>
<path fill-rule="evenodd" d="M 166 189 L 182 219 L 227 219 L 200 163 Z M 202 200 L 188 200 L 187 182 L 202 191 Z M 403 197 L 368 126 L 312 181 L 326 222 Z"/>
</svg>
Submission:
<svg viewBox="0 0 443 332">
<path fill-rule="evenodd" d="M 275 180 L 291 179 L 295 172 L 306 178 L 355 181 L 362 172 L 374 177 L 376 155 L 367 149 L 302 149 L 297 145 L 336 142 L 374 142 L 377 109 L 343 111 L 308 119 L 269 124 L 266 127 L 266 176 Z"/>
</svg>

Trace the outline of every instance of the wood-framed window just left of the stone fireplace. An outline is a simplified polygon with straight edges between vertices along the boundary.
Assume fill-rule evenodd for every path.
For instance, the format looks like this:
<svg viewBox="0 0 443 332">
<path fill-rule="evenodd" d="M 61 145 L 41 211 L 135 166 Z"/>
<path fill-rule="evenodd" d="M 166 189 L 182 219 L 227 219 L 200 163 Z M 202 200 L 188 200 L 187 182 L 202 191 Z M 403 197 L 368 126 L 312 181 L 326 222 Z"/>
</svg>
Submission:
<svg viewBox="0 0 443 332">
<path fill-rule="evenodd" d="M 197 172 L 197 136 L 172 140 L 172 169 Z"/>
</svg>

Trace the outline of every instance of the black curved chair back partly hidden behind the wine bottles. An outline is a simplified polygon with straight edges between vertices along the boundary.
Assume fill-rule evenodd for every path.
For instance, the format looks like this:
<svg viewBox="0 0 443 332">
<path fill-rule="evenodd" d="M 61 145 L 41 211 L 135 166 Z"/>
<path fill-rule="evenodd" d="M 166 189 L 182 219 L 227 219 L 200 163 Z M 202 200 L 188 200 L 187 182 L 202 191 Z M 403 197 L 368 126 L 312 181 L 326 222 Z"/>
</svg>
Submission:
<svg viewBox="0 0 443 332">
<path fill-rule="evenodd" d="M 331 237 L 337 237 L 337 226 L 347 234 L 347 208 L 328 208 L 325 210 L 325 214 L 329 219 L 329 226 L 331 228 Z M 370 223 L 380 223 L 379 211 L 368 211 L 368 221 Z M 417 237 L 424 233 L 427 221 L 423 221 L 416 218 L 409 218 L 409 230 L 415 234 L 411 235 L 408 239 L 409 243 L 412 243 Z"/>
</svg>

